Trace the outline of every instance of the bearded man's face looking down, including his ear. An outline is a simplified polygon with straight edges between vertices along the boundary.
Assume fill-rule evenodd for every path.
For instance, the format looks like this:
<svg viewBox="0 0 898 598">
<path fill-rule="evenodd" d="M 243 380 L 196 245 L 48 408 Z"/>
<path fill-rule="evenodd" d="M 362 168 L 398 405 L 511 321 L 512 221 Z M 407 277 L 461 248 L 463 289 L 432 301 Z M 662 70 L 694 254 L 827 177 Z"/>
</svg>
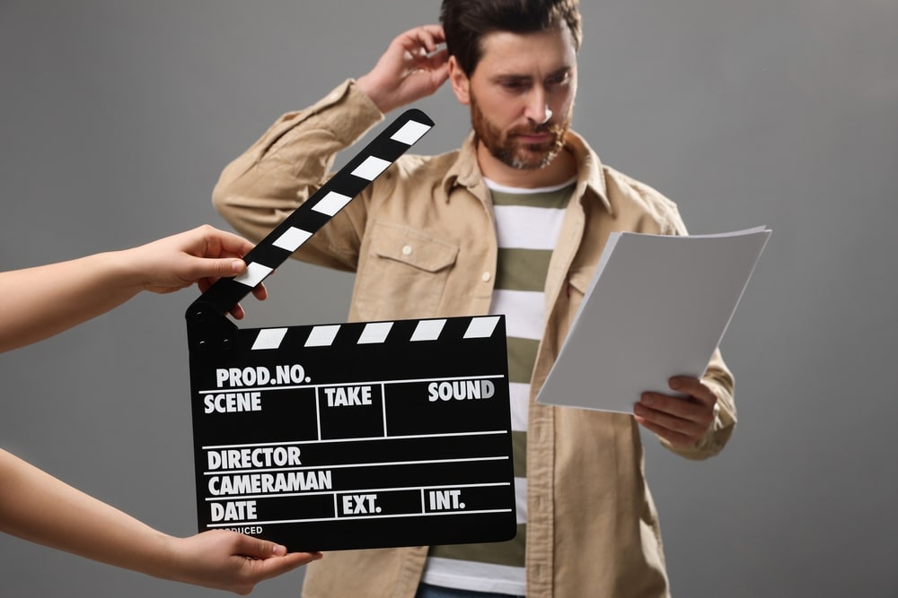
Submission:
<svg viewBox="0 0 898 598">
<path fill-rule="evenodd" d="M 453 89 L 471 106 L 479 154 L 514 169 L 541 169 L 559 154 L 577 94 L 577 52 L 565 26 L 536 33 L 497 31 L 481 40 L 471 77 Z M 461 93 L 460 93 L 461 91 Z"/>
</svg>

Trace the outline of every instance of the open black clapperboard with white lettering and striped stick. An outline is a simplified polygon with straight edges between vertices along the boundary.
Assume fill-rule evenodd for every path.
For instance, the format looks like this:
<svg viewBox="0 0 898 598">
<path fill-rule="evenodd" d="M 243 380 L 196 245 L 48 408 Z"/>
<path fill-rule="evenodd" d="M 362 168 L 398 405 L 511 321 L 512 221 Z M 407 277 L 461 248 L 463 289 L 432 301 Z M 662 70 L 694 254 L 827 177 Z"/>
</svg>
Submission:
<svg viewBox="0 0 898 598">
<path fill-rule="evenodd" d="M 240 329 L 240 299 L 433 126 L 409 110 L 187 311 L 199 530 L 289 550 L 516 533 L 504 316 Z"/>
</svg>

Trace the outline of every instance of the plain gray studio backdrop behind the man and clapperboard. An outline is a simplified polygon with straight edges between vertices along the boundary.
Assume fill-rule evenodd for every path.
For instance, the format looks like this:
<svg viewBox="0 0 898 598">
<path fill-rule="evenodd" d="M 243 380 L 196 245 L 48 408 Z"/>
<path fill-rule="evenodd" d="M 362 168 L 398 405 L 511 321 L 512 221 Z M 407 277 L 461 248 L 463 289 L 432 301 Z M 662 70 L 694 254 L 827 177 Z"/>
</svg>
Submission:
<svg viewBox="0 0 898 598">
<path fill-rule="evenodd" d="M 225 227 L 209 200 L 225 164 L 436 21 L 437 4 L 0 1 L 0 268 Z M 587 0 L 583 13 L 575 124 L 603 160 L 672 197 L 693 233 L 773 230 L 723 342 L 732 442 L 696 464 L 647 438 L 674 594 L 898 596 L 898 4 Z M 418 107 L 437 128 L 416 151 L 457 146 L 468 117 L 451 91 Z M 245 302 L 246 325 L 343 321 L 351 280 L 289 264 L 269 304 Z M 146 294 L 0 356 L 0 444 L 193 533 L 195 295 Z M 216 594 L 8 536 L 0 557 L 3 596 Z M 255 595 L 295 595 L 302 575 Z"/>
</svg>

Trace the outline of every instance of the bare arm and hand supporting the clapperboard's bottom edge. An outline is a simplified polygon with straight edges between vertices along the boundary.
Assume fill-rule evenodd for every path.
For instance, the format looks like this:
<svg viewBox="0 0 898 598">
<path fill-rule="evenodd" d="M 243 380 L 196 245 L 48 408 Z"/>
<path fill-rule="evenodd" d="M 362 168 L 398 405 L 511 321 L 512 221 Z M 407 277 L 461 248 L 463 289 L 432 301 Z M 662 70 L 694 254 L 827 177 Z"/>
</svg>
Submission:
<svg viewBox="0 0 898 598">
<path fill-rule="evenodd" d="M 0 488 L 0 531 L 163 579 L 249 594 L 321 558 L 224 530 L 189 538 L 157 532 L 2 450 Z"/>
</svg>

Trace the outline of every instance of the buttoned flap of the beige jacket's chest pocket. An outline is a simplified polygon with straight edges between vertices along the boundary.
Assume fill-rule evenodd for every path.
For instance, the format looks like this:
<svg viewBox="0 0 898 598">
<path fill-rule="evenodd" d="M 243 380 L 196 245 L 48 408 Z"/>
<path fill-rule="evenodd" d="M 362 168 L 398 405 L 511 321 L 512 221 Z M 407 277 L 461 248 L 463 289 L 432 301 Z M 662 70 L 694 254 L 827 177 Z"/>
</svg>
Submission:
<svg viewBox="0 0 898 598">
<path fill-rule="evenodd" d="M 407 226 L 374 223 L 371 251 L 375 256 L 409 264 L 425 272 L 439 272 L 455 263 L 458 246 Z"/>
</svg>

